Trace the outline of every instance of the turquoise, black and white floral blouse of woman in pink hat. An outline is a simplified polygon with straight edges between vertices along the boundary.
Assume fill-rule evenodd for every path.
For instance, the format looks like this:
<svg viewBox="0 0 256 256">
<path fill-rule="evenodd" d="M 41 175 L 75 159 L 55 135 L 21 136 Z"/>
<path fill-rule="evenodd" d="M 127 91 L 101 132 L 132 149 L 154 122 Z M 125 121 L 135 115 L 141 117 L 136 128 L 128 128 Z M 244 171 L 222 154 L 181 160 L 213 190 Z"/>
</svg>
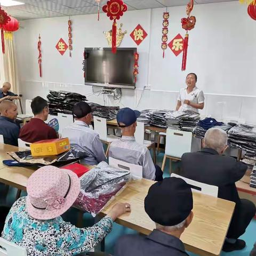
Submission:
<svg viewBox="0 0 256 256">
<path fill-rule="evenodd" d="M 26 197 L 21 197 L 7 215 L 2 237 L 25 247 L 28 256 L 68 256 L 91 250 L 111 231 L 112 225 L 109 217 L 89 228 L 77 228 L 61 217 L 36 220 L 26 211 Z"/>
</svg>

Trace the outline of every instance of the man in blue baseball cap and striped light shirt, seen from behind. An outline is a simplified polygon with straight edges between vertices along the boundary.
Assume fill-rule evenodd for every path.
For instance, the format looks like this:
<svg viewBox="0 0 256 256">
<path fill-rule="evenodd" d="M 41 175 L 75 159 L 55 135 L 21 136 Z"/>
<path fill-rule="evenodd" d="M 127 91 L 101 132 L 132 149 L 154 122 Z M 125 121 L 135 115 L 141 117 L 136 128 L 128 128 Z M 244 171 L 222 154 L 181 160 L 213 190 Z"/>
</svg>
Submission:
<svg viewBox="0 0 256 256">
<path fill-rule="evenodd" d="M 130 108 L 119 110 L 116 119 L 122 129 L 122 138 L 110 144 L 109 156 L 127 163 L 141 165 L 143 178 L 161 181 L 163 180 L 161 168 L 154 165 L 148 148 L 135 141 L 134 133 L 139 116 L 140 112 L 137 110 Z"/>
</svg>

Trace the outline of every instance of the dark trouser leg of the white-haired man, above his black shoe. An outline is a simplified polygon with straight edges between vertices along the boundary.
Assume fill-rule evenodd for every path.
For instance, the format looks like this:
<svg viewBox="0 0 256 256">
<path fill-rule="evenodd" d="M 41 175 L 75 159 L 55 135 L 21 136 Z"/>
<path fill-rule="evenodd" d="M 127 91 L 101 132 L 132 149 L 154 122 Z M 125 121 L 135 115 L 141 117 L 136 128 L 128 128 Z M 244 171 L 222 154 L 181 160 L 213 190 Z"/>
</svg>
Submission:
<svg viewBox="0 0 256 256">
<path fill-rule="evenodd" d="M 251 201 L 241 199 L 241 203 L 237 204 L 235 207 L 227 238 L 237 239 L 239 236 L 242 236 L 254 217 L 255 212 L 255 205 Z"/>
</svg>

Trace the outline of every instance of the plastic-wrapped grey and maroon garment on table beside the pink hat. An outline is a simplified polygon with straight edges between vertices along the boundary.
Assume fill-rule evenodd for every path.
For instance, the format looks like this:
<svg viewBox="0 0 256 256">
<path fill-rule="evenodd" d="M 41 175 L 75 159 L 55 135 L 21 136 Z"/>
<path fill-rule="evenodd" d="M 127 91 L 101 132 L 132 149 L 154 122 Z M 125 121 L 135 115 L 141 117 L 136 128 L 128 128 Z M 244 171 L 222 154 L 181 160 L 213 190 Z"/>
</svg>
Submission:
<svg viewBox="0 0 256 256">
<path fill-rule="evenodd" d="M 110 167 L 101 162 L 94 169 L 86 172 L 81 178 L 81 191 L 75 205 L 95 215 L 124 188 L 131 180 L 129 171 Z"/>
</svg>

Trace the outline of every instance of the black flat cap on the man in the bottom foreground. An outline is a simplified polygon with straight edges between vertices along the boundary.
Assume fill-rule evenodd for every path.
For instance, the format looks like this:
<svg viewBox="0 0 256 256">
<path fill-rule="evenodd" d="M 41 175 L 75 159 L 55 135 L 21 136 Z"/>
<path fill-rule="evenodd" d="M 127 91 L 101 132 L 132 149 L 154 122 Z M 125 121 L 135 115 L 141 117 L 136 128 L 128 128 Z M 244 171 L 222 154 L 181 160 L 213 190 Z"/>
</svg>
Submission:
<svg viewBox="0 0 256 256">
<path fill-rule="evenodd" d="M 165 178 L 148 190 L 144 202 L 150 219 L 162 226 L 175 226 L 185 220 L 193 209 L 190 186 L 180 178 Z"/>
</svg>

